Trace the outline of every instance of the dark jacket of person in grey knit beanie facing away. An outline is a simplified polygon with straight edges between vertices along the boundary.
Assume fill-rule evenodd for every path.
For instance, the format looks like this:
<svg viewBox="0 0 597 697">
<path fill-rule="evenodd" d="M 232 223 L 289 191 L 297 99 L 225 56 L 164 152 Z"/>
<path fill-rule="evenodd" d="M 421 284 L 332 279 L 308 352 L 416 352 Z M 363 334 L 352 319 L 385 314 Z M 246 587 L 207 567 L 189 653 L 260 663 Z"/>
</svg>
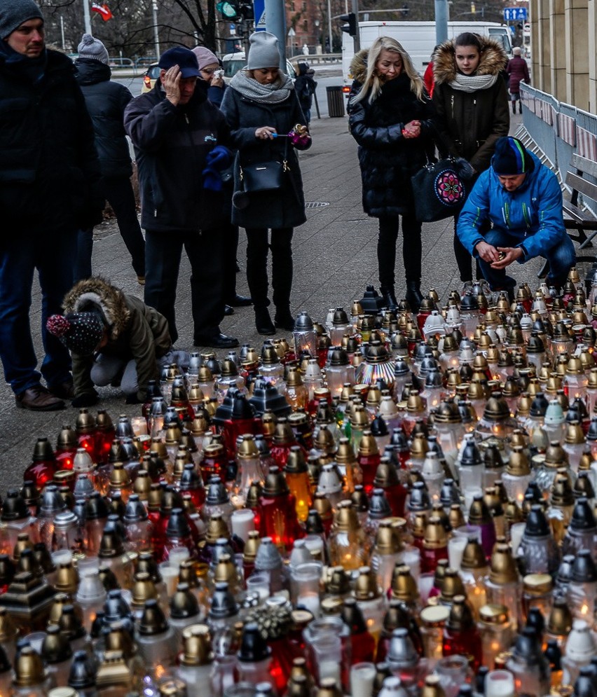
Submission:
<svg viewBox="0 0 597 697">
<path fill-rule="evenodd" d="M 76 80 L 93 122 L 95 149 L 104 177 L 130 177 L 132 166 L 123 124 L 126 105 L 132 94 L 110 80 L 110 67 L 99 60 L 78 58 Z"/>
</svg>

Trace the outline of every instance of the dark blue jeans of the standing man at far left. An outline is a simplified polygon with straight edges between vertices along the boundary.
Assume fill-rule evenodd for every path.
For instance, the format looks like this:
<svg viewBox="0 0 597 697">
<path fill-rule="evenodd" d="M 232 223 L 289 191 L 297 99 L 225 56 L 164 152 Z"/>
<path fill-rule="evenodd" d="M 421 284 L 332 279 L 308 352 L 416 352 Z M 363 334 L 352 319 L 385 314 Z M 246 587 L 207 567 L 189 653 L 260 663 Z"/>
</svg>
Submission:
<svg viewBox="0 0 597 697">
<path fill-rule="evenodd" d="M 73 284 L 76 232 L 31 235 L 6 234 L 0 242 L 0 358 L 13 392 L 38 385 L 41 375 L 49 386 L 70 378 L 67 347 L 46 331 L 50 315 L 62 312 L 62 299 Z M 45 357 L 41 375 L 29 325 L 34 270 L 41 286 L 41 341 Z"/>
</svg>

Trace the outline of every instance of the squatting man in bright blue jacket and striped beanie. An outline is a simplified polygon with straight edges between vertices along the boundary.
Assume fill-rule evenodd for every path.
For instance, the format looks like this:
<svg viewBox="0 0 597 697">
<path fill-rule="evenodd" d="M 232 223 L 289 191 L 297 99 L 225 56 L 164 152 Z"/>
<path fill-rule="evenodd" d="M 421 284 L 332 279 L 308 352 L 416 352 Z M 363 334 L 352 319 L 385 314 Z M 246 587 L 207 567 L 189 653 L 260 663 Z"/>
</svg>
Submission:
<svg viewBox="0 0 597 697">
<path fill-rule="evenodd" d="M 483 222 L 492 229 L 481 233 Z M 560 288 L 576 262 L 562 218 L 556 175 L 529 153 L 519 139 L 500 138 L 491 167 L 476 180 L 458 219 L 458 237 L 479 259 L 491 289 L 512 295 L 516 281 L 506 275 L 514 261 L 534 256 L 549 261 L 547 283 Z"/>
</svg>

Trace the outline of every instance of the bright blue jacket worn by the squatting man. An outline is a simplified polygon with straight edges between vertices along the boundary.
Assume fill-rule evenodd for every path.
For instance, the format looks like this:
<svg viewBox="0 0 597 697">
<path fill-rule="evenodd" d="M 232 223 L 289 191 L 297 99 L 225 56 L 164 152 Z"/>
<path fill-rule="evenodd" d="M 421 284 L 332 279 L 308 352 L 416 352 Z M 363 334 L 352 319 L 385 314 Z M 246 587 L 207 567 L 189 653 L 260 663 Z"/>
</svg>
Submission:
<svg viewBox="0 0 597 697">
<path fill-rule="evenodd" d="M 505 190 L 493 167 L 476 180 L 456 228 L 460 242 L 473 256 L 479 256 L 475 245 L 483 240 L 481 228 L 487 220 L 493 230 L 514 237 L 511 246 L 522 247 L 521 263 L 543 255 L 565 237 L 558 179 L 535 155 L 530 156 L 535 166 L 515 191 Z"/>
</svg>

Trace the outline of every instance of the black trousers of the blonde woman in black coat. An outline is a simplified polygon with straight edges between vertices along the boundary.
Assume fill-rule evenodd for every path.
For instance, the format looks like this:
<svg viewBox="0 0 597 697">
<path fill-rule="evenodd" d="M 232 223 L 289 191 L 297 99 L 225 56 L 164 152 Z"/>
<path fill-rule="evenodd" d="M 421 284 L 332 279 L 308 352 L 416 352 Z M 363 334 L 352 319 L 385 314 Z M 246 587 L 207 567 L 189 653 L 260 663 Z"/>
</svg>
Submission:
<svg viewBox="0 0 597 697">
<path fill-rule="evenodd" d="M 382 288 L 394 287 L 399 220 L 398 216 L 379 219 L 377 261 Z M 402 216 L 402 258 L 407 281 L 421 280 L 421 254 L 421 223 L 413 213 L 405 214 Z"/>
</svg>

